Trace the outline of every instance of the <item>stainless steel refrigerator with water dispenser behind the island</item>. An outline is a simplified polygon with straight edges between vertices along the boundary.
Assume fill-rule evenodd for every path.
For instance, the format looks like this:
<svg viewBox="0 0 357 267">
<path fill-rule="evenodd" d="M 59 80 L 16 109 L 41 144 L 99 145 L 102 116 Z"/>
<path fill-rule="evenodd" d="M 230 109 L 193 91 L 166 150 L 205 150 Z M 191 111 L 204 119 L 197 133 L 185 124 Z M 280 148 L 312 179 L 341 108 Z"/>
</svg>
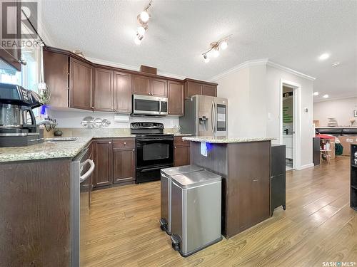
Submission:
<svg viewBox="0 0 357 267">
<path fill-rule="evenodd" d="M 185 115 L 180 117 L 181 132 L 196 136 L 227 135 L 226 98 L 193 95 L 185 100 Z"/>
</svg>

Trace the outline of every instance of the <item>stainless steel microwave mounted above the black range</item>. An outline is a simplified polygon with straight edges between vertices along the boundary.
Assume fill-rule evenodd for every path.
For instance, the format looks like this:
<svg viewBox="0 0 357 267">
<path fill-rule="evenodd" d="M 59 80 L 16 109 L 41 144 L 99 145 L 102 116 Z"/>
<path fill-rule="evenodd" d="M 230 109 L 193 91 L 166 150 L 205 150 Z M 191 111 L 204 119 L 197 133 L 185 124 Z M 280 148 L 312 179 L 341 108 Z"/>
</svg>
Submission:
<svg viewBox="0 0 357 267">
<path fill-rule="evenodd" d="M 167 98 L 152 95 L 133 95 L 133 115 L 166 116 Z"/>
</svg>

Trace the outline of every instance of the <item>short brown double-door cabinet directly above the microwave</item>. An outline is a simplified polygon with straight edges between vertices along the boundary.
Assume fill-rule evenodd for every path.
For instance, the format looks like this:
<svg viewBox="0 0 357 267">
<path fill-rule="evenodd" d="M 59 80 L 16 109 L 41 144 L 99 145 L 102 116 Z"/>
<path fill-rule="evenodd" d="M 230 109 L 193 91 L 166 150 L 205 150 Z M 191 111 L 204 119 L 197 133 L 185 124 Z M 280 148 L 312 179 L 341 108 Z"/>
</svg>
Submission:
<svg viewBox="0 0 357 267">
<path fill-rule="evenodd" d="M 167 97 L 167 80 L 132 75 L 133 94 Z"/>
</svg>

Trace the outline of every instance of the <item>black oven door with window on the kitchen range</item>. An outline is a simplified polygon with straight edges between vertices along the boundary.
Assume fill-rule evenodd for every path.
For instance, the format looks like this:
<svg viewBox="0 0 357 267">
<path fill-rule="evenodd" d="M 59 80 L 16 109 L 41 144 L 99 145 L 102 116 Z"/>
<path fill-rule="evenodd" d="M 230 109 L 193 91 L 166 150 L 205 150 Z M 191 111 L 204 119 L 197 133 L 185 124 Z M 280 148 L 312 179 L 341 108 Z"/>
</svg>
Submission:
<svg viewBox="0 0 357 267">
<path fill-rule="evenodd" d="M 154 167 L 174 163 L 174 137 L 136 138 L 136 167 Z"/>
</svg>

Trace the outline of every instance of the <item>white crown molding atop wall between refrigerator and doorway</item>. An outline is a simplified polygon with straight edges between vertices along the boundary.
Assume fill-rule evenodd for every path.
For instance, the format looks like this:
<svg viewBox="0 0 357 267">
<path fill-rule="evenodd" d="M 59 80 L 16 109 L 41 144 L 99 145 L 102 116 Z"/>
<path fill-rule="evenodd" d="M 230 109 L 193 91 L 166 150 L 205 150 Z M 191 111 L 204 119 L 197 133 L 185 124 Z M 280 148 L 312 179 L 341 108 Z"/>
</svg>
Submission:
<svg viewBox="0 0 357 267">
<path fill-rule="evenodd" d="M 306 78 L 308 80 L 316 80 L 316 78 L 310 76 L 310 75 L 306 75 L 304 73 L 300 73 L 297 70 L 293 70 L 291 68 L 287 68 L 285 66 L 282 66 L 278 63 L 275 63 L 273 61 L 270 61 L 268 58 L 261 58 L 261 59 L 255 59 L 252 61 L 246 61 L 243 62 L 233 68 L 230 68 L 229 70 L 224 71 L 223 73 L 220 73 L 218 75 L 213 76 L 212 78 L 208 79 L 210 82 L 216 82 L 217 80 L 223 78 L 224 76 L 236 72 L 238 70 L 241 70 L 242 68 L 247 68 L 247 67 L 251 67 L 251 66 L 258 66 L 258 65 L 266 65 L 266 66 L 271 66 L 273 68 L 277 68 L 279 70 L 283 70 L 287 73 L 291 73 L 293 75 L 297 75 L 301 78 Z"/>
</svg>

